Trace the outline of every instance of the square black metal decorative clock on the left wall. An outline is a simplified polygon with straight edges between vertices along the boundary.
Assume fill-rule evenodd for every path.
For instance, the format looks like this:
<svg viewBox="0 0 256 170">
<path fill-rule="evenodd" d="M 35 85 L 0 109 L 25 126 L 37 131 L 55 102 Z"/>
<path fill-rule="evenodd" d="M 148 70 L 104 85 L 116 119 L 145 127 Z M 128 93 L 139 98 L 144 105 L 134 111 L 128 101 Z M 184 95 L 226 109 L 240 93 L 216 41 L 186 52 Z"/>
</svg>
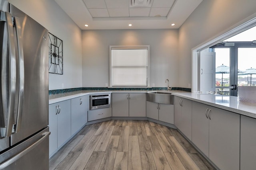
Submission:
<svg viewBox="0 0 256 170">
<path fill-rule="evenodd" d="M 49 73 L 63 74 L 63 41 L 49 35 Z"/>
</svg>

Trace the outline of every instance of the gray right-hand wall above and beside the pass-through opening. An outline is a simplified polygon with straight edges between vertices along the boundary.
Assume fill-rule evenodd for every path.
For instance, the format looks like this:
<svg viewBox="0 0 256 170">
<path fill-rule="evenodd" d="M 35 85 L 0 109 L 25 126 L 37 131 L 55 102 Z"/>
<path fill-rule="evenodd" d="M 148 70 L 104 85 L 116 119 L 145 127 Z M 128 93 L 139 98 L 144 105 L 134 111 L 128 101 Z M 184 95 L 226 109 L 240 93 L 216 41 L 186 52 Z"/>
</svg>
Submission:
<svg viewBox="0 0 256 170">
<path fill-rule="evenodd" d="M 186 88 L 192 81 L 192 48 L 255 12 L 256 0 L 203 0 L 179 29 L 179 86 Z"/>
</svg>

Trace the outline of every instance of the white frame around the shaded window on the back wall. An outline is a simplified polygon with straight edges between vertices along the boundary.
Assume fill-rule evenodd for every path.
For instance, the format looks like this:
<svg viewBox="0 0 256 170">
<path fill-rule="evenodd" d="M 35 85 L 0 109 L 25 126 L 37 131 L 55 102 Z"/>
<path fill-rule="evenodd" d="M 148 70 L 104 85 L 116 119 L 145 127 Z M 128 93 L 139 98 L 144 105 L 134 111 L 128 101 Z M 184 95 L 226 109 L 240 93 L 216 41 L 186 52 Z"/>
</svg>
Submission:
<svg viewBox="0 0 256 170">
<path fill-rule="evenodd" d="M 112 85 L 112 50 L 147 49 L 147 86 L 113 86 Z M 147 88 L 150 87 L 150 46 L 149 45 L 110 45 L 109 46 L 109 85 L 111 88 Z"/>
</svg>

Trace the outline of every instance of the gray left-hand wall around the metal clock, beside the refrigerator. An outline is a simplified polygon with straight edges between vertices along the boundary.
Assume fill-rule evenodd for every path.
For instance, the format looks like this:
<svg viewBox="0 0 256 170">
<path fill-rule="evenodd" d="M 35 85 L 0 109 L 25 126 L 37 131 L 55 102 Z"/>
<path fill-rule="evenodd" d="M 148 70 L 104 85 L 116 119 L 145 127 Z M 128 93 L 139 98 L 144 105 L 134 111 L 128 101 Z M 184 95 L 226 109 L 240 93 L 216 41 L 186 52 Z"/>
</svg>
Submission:
<svg viewBox="0 0 256 170">
<path fill-rule="evenodd" d="M 82 86 L 82 31 L 54 0 L 8 0 L 63 40 L 63 75 L 49 74 L 49 90 Z M 48 56 L 45 56 L 48 57 Z M 62 86 L 62 84 L 64 86 Z"/>
</svg>

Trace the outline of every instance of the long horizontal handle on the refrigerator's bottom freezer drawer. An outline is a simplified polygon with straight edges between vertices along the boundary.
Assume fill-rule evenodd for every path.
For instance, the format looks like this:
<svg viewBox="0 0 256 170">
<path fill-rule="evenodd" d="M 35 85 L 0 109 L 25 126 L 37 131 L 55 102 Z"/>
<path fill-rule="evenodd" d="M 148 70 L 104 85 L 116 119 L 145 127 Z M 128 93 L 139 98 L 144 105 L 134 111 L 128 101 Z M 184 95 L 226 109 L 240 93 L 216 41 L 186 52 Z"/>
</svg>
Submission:
<svg viewBox="0 0 256 170">
<path fill-rule="evenodd" d="M 45 132 L 42 134 L 42 137 L 36 141 L 35 143 L 33 143 L 32 145 L 30 145 L 29 147 L 27 147 L 26 149 L 22 150 L 20 153 L 16 154 L 15 156 L 13 156 L 12 158 L 6 160 L 5 162 L 3 162 L 2 164 L 0 164 L 0 170 L 6 168 L 7 166 L 9 166 L 10 164 L 12 164 L 13 162 L 15 162 L 16 160 L 18 160 L 19 158 L 21 158 L 22 156 L 24 156 L 26 153 L 30 152 L 30 150 L 34 149 L 37 145 L 39 145 L 42 141 L 44 141 L 44 139 L 46 139 L 51 132 Z"/>
</svg>

